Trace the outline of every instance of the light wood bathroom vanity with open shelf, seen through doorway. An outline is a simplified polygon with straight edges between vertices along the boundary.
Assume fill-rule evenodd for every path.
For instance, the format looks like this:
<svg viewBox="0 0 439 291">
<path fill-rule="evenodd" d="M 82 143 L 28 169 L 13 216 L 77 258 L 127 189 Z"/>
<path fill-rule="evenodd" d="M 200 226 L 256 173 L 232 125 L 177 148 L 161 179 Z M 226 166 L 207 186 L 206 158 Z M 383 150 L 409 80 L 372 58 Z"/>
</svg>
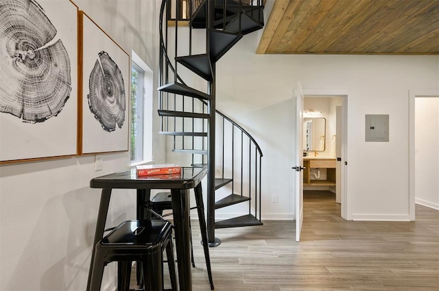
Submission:
<svg viewBox="0 0 439 291">
<path fill-rule="evenodd" d="M 335 186 L 335 157 L 303 157 L 303 186 Z M 327 179 L 312 179 L 311 168 L 326 168 Z"/>
</svg>

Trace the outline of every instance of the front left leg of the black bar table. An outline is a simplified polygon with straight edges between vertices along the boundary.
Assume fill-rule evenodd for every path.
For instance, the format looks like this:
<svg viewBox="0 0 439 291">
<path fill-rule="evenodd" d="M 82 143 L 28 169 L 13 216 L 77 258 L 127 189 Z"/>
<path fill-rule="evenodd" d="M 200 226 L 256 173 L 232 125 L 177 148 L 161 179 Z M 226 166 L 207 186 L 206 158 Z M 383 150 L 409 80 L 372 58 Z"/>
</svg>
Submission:
<svg viewBox="0 0 439 291">
<path fill-rule="evenodd" d="M 99 240 L 102 240 L 102 237 L 104 236 L 105 222 L 107 220 L 108 205 L 110 205 L 110 198 L 111 198 L 111 188 L 102 189 L 101 202 L 99 203 L 99 211 L 97 212 L 95 238 L 93 240 L 93 248 L 91 251 L 90 270 L 88 271 L 88 281 L 87 281 L 87 289 L 86 289 L 88 291 L 91 291 L 90 290 L 91 273 L 92 273 L 91 270 L 93 270 L 93 260 L 95 260 L 95 246 L 99 242 Z"/>
</svg>

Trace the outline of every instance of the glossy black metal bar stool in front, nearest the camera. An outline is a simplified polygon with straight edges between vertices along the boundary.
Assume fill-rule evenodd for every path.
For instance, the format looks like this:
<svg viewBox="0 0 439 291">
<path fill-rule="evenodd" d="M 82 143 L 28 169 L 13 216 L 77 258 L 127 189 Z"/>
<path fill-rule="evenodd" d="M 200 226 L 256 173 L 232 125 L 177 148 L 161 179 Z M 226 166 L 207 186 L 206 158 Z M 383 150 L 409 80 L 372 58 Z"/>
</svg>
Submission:
<svg viewBox="0 0 439 291">
<path fill-rule="evenodd" d="M 167 220 L 127 220 L 95 246 L 92 291 L 99 291 L 104 267 L 118 262 L 119 290 L 129 290 L 131 262 L 141 262 L 145 290 L 163 290 L 163 251 L 166 249 L 172 290 L 177 290 L 171 223 Z"/>
</svg>

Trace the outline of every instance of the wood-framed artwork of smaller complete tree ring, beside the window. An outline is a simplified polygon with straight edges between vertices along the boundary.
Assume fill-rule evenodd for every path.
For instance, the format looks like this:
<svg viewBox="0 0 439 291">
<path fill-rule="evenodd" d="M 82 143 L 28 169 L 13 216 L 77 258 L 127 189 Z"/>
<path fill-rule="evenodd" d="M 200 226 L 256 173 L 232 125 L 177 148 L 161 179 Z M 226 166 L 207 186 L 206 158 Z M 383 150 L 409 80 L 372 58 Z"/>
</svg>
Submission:
<svg viewBox="0 0 439 291">
<path fill-rule="evenodd" d="M 128 151 L 130 55 L 91 18 L 82 21 L 80 153 Z"/>
</svg>

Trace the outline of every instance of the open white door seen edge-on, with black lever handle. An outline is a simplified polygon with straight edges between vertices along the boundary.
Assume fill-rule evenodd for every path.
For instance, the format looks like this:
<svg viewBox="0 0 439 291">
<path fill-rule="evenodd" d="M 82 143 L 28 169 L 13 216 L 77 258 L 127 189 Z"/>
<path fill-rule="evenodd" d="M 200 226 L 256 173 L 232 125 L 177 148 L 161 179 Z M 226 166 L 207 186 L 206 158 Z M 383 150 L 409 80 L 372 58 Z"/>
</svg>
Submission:
<svg viewBox="0 0 439 291">
<path fill-rule="evenodd" d="M 300 82 L 293 96 L 293 188 L 296 197 L 296 241 L 300 240 L 303 223 L 303 92 Z"/>
</svg>

